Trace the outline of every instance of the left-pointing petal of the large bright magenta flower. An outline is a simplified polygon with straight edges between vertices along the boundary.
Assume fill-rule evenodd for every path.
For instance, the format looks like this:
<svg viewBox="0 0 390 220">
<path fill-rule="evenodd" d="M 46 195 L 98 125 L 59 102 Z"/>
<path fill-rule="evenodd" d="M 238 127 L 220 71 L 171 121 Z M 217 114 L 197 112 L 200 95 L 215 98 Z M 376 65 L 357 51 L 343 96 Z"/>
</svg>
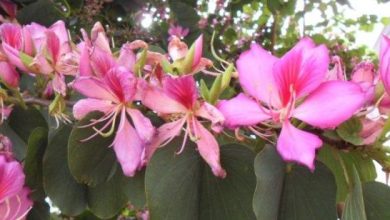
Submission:
<svg viewBox="0 0 390 220">
<path fill-rule="evenodd" d="M 230 100 L 220 101 L 218 109 L 224 115 L 225 125 L 229 128 L 252 126 L 270 118 L 259 103 L 242 93 Z"/>
</svg>

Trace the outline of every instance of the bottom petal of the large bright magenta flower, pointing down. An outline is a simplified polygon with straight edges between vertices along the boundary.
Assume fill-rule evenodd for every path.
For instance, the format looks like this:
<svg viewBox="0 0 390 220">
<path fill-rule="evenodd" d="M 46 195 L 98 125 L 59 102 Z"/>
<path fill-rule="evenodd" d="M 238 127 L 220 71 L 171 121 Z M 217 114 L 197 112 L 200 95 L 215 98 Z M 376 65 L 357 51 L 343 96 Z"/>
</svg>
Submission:
<svg viewBox="0 0 390 220">
<path fill-rule="evenodd" d="M 286 161 L 295 161 L 314 170 L 316 149 L 322 141 L 316 135 L 295 128 L 289 121 L 284 122 L 278 138 L 277 150 Z"/>
</svg>

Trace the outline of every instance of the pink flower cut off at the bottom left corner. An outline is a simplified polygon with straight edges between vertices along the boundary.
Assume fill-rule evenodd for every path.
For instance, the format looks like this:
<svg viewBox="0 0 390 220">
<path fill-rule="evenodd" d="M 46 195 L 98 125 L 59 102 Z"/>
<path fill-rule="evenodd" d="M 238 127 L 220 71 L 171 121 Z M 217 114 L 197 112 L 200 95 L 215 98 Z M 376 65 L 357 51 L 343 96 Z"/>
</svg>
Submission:
<svg viewBox="0 0 390 220">
<path fill-rule="evenodd" d="M 32 207 L 24 185 L 22 166 L 0 155 L 0 216 L 4 220 L 22 219 Z"/>
</svg>

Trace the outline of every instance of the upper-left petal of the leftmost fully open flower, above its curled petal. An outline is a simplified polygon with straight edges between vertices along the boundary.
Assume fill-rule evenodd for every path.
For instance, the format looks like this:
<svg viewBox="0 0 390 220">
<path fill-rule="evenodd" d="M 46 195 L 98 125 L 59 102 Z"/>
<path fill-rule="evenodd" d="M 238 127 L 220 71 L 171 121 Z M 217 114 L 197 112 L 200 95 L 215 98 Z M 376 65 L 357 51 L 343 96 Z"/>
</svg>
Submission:
<svg viewBox="0 0 390 220">
<path fill-rule="evenodd" d="M 118 101 L 118 97 L 106 84 L 93 77 L 80 77 L 73 82 L 72 87 L 89 98 Z"/>
</svg>

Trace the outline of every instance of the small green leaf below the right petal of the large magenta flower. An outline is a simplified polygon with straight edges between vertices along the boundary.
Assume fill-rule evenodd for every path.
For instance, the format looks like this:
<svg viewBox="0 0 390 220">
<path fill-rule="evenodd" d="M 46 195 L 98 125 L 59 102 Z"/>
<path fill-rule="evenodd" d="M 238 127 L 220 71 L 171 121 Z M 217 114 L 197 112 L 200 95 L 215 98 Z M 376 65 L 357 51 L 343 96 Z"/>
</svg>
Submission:
<svg viewBox="0 0 390 220">
<path fill-rule="evenodd" d="M 341 124 L 336 132 L 344 141 L 353 145 L 361 145 L 363 144 L 363 139 L 359 135 L 361 130 L 362 123 L 358 118 L 353 117 Z"/>
</svg>

